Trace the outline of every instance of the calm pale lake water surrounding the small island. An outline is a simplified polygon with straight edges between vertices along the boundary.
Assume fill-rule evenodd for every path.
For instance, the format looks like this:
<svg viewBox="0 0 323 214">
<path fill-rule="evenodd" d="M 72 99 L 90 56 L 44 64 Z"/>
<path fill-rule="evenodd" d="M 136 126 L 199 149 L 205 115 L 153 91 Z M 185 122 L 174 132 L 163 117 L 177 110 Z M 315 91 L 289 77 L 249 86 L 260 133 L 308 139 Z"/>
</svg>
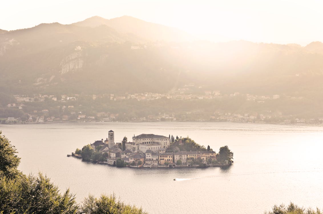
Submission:
<svg viewBox="0 0 323 214">
<path fill-rule="evenodd" d="M 142 133 L 178 137 L 234 152 L 229 168 L 133 169 L 66 155 L 112 129 L 115 140 Z M 323 208 L 323 127 L 212 122 L 52 123 L 0 125 L 24 173 L 46 173 L 80 202 L 115 193 L 149 213 L 263 213 L 290 201 Z M 173 178 L 178 178 L 173 181 Z"/>
</svg>

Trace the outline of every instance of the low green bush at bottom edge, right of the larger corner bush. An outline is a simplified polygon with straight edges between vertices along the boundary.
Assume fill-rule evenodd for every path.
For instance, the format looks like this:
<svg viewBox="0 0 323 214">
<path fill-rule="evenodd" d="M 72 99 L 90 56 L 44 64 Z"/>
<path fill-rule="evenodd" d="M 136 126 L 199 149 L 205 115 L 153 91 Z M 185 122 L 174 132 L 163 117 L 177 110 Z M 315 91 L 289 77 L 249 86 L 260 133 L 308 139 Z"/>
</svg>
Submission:
<svg viewBox="0 0 323 214">
<path fill-rule="evenodd" d="M 123 202 L 117 201 L 116 196 L 101 195 L 99 199 L 89 195 L 82 201 L 80 213 L 87 214 L 145 214 L 141 208 L 126 205 Z"/>
</svg>

